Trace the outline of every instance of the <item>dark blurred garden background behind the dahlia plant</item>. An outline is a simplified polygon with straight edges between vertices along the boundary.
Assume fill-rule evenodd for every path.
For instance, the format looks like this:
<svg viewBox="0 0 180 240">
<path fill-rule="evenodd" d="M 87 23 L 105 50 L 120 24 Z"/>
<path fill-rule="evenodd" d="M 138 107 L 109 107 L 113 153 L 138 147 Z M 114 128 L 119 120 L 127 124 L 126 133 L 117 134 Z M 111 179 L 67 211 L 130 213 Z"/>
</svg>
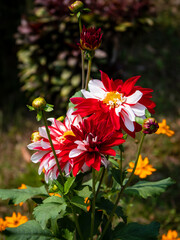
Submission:
<svg viewBox="0 0 180 240">
<path fill-rule="evenodd" d="M 71 2 L 0 1 L 1 188 L 17 187 L 22 182 L 41 184 L 26 150 L 31 132 L 38 127 L 26 104 L 44 96 L 55 105 L 54 116 L 58 117 L 65 114 L 69 97 L 81 88 L 79 32 L 77 20 L 68 9 Z M 127 200 L 128 214 L 132 213 L 133 218 L 133 209 L 139 209 L 140 221 L 159 219 L 163 230 L 171 227 L 180 231 L 180 1 L 84 3 L 92 11 L 83 16 L 83 23 L 103 31 L 91 76 L 100 78 L 99 69 L 114 79 L 141 75 L 139 84 L 154 89 L 156 117 L 159 121 L 166 118 L 175 131 L 171 139 L 161 136 L 158 141 L 153 136 L 144 154 L 149 154 L 158 169 L 155 180 L 173 176 L 177 184 L 159 200 L 148 201 L 149 207 L 143 213 L 141 203 Z M 4 216 L 7 211 L 0 203 L 0 214 Z"/>
</svg>

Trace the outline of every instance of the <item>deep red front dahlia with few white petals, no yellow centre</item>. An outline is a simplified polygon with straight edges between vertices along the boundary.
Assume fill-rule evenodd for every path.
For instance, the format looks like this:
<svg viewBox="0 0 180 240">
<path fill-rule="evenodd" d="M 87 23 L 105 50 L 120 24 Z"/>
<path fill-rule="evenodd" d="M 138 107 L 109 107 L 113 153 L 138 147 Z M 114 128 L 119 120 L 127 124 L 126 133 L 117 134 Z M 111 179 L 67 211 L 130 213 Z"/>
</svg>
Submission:
<svg viewBox="0 0 180 240">
<path fill-rule="evenodd" d="M 99 171 L 101 164 L 107 166 L 106 155 L 115 156 L 112 149 L 125 142 L 123 134 L 116 131 L 106 120 L 95 121 L 91 117 L 72 126 L 72 135 L 66 136 L 59 156 L 63 162 L 72 163 L 73 175 L 94 168 Z"/>
</svg>

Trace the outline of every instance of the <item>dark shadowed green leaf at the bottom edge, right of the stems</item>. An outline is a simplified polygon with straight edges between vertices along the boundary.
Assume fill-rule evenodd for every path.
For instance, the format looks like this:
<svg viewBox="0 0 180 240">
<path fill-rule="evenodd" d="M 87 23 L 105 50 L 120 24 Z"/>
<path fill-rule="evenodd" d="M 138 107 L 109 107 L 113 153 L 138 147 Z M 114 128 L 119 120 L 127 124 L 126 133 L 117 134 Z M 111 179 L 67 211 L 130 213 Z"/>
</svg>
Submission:
<svg viewBox="0 0 180 240">
<path fill-rule="evenodd" d="M 148 225 L 119 223 L 113 231 L 113 240 L 157 240 L 159 227 L 157 222 Z"/>
</svg>

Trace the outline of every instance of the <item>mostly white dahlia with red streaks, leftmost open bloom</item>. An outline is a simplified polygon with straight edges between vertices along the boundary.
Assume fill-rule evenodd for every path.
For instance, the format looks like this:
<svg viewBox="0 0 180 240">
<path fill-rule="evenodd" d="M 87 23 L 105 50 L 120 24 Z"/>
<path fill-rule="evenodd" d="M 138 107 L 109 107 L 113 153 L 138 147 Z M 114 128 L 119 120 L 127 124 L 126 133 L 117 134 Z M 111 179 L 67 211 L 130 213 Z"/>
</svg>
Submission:
<svg viewBox="0 0 180 240">
<path fill-rule="evenodd" d="M 51 126 L 48 128 L 60 167 L 67 175 L 71 171 L 71 163 L 61 159 L 61 145 L 65 141 L 67 135 L 73 134 L 71 127 L 78 127 L 79 123 L 82 121 L 82 118 L 79 115 L 72 115 L 72 113 L 73 109 L 70 108 L 63 123 L 55 118 L 48 119 L 51 122 Z M 31 161 L 34 163 L 40 162 L 38 173 L 41 174 L 41 172 L 44 171 L 45 181 L 48 182 L 49 179 L 56 179 L 58 177 L 59 170 L 56 165 L 56 160 L 45 127 L 39 128 L 39 136 L 40 137 L 37 138 L 37 141 L 30 143 L 27 147 L 30 150 L 37 150 L 37 152 L 31 156 Z"/>
</svg>

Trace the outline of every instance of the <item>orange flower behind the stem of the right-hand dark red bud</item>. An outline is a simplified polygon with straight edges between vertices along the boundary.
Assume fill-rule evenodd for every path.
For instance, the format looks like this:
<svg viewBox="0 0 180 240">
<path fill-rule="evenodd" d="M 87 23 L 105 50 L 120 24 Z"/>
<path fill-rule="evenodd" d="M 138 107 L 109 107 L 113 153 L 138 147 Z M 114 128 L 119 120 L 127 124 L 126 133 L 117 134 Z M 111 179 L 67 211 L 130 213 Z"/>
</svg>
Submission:
<svg viewBox="0 0 180 240">
<path fill-rule="evenodd" d="M 127 171 L 132 172 L 134 168 L 134 162 L 130 162 L 129 167 L 130 168 L 128 168 Z M 156 169 L 153 168 L 151 164 L 149 164 L 149 159 L 145 157 L 143 160 L 142 156 L 140 155 L 134 174 L 138 175 L 140 178 L 146 178 L 147 175 L 151 175 L 154 171 L 156 171 Z"/>
</svg>

